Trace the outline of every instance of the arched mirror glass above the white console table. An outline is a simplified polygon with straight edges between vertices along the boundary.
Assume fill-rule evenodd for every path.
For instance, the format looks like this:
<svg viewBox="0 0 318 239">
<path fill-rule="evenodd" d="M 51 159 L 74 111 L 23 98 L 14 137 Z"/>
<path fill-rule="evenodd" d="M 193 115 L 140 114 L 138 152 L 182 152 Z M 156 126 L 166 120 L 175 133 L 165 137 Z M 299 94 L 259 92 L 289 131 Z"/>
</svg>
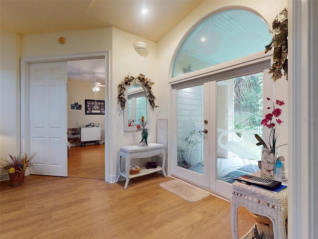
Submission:
<svg viewBox="0 0 318 239">
<path fill-rule="evenodd" d="M 150 105 L 147 101 L 146 89 L 140 82 L 130 85 L 125 92 L 126 107 L 124 109 L 125 131 L 137 130 L 142 116 L 147 122 L 146 128 L 150 127 Z"/>
</svg>

